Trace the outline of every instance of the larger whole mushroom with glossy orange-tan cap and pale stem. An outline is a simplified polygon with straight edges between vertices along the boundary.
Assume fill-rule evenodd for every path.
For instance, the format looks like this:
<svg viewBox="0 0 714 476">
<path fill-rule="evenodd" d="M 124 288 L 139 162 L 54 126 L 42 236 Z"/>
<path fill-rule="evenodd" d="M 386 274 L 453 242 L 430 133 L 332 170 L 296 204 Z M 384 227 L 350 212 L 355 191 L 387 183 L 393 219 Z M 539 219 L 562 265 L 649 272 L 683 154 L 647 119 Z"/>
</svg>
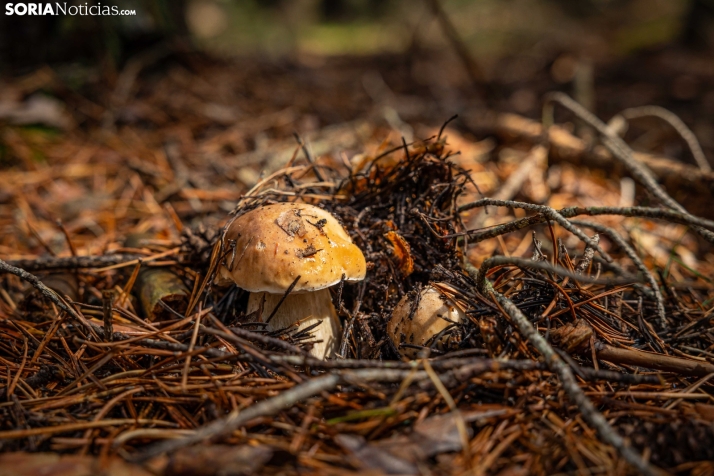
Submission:
<svg viewBox="0 0 714 476">
<path fill-rule="evenodd" d="M 235 282 L 249 291 L 248 312 L 262 307 L 263 320 L 280 304 L 268 330 L 298 321 L 298 329 L 318 324 L 311 333 L 321 342 L 310 353 L 321 359 L 333 357 L 340 321 L 327 288 L 343 276 L 345 281 L 361 281 L 366 272 L 362 251 L 337 219 L 303 203 L 265 205 L 236 218 L 225 238 L 235 249 L 219 268 L 219 284 Z"/>
</svg>

